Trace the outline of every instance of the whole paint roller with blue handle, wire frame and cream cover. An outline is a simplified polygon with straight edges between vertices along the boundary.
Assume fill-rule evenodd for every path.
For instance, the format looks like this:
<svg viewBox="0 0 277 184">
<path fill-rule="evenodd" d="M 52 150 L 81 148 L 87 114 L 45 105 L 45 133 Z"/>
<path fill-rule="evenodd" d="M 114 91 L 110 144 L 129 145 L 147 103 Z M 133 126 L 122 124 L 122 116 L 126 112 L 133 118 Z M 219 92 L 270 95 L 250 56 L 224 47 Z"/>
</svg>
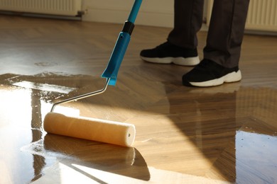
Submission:
<svg viewBox="0 0 277 184">
<path fill-rule="evenodd" d="M 85 93 L 80 96 L 75 96 L 73 98 L 68 98 L 54 103 L 50 113 L 45 115 L 43 121 L 43 128 L 46 132 L 51 134 L 60 134 L 67 137 L 116 144 L 120 146 L 131 146 L 134 143 L 136 136 L 136 129 L 134 125 L 111 120 L 99 120 L 90 117 L 70 117 L 54 113 L 54 109 L 56 105 L 61 103 L 69 103 L 82 98 L 95 96 L 100 93 L 104 93 L 107 86 L 115 86 L 119 67 L 129 45 L 131 33 L 134 29 L 134 21 L 136 20 L 141 3 L 142 0 L 134 1 L 129 18 L 124 23 L 123 29 L 119 33 L 114 50 L 109 58 L 107 68 L 102 73 L 102 78 L 106 78 L 106 84 L 104 87 L 98 91 Z"/>
</svg>

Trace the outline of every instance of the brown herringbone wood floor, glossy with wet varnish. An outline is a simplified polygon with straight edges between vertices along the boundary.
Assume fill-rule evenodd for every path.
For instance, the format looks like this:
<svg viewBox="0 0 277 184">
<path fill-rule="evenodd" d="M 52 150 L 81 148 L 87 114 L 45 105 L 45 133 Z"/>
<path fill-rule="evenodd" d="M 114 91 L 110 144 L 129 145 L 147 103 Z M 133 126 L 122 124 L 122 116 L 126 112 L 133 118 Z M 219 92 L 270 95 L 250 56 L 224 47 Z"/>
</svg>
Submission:
<svg viewBox="0 0 277 184">
<path fill-rule="evenodd" d="M 277 37 L 245 35 L 242 81 L 188 88 L 181 76 L 192 67 L 139 58 L 170 29 L 136 25 L 116 86 L 57 107 L 134 124 L 134 147 L 125 148 L 42 127 L 54 102 L 102 88 L 122 25 L 0 23 L 0 183 L 277 183 Z"/>
</svg>

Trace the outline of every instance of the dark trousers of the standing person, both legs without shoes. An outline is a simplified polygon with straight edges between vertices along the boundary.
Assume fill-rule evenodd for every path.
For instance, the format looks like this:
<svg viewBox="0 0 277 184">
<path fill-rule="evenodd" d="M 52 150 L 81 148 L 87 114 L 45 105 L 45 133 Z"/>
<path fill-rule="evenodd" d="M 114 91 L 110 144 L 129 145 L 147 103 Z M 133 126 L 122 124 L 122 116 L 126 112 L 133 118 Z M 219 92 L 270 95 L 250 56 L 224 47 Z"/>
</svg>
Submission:
<svg viewBox="0 0 277 184">
<path fill-rule="evenodd" d="M 202 26 L 204 0 L 175 0 L 174 28 L 168 41 L 185 48 L 197 47 Z M 237 67 L 249 0 L 214 0 L 203 50 L 204 58 L 224 67 Z"/>
</svg>

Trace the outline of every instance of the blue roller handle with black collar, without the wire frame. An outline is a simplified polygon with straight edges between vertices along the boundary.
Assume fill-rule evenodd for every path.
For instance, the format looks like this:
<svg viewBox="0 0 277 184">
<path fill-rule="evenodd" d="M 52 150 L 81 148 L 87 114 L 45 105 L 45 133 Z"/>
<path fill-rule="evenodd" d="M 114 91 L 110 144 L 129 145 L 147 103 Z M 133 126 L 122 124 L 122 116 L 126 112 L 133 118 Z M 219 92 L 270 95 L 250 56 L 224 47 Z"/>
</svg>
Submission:
<svg viewBox="0 0 277 184">
<path fill-rule="evenodd" d="M 128 21 L 125 22 L 124 29 L 119 33 L 114 50 L 112 51 L 111 57 L 109 58 L 107 68 L 102 74 L 103 78 L 110 79 L 109 85 L 115 86 L 116 84 L 116 77 L 119 72 L 119 67 L 131 40 L 131 31 L 134 28 L 134 22 L 136 21 L 136 16 L 139 13 L 141 3 L 142 0 L 135 0 Z"/>
</svg>

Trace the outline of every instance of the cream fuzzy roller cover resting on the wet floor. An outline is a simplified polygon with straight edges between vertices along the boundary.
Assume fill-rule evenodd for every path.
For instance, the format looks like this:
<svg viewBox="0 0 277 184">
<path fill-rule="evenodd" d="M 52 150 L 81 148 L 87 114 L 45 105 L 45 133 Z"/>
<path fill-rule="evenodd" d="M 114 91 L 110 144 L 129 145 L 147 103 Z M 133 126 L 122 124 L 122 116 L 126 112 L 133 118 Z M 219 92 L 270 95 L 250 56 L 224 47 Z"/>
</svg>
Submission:
<svg viewBox="0 0 277 184">
<path fill-rule="evenodd" d="M 59 113 L 45 115 L 43 127 L 46 132 L 52 134 L 120 146 L 131 146 L 136 136 L 135 126 L 128 123 L 88 117 L 69 117 Z"/>
</svg>

